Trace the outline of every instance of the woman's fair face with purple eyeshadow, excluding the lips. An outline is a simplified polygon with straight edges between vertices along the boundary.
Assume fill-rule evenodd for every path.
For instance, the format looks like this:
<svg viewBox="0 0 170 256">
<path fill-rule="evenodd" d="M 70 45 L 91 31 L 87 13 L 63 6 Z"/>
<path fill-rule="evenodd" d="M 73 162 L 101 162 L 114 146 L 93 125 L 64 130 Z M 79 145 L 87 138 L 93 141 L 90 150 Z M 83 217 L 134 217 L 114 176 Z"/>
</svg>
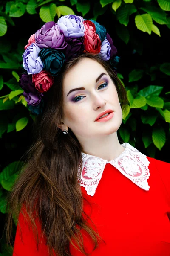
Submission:
<svg viewBox="0 0 170 256">
<path fill-rule="evenodd" d="M 81 87 L 84 90 L 70 92 Z M 116 87 L 105 68 L 97 61 L 82 58 L 71 67 L 63 81 L 63 93 L 65 116 L 62 122 L 78 140 L 81 137 L 102 137 L 119 129 L 122 109 Z M 106 122 L 96 122 L 96 117 L 108 109 L 114 111 L 113 117 Z"/>
</svg>

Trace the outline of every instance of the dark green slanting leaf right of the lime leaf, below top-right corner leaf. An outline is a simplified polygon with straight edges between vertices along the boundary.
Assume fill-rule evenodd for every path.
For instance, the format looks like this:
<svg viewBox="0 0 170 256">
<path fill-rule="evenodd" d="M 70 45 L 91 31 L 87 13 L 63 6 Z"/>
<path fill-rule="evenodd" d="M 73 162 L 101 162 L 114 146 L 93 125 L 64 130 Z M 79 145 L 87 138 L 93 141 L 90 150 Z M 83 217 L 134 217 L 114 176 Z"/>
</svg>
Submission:
<svg viewBox="0 0 170 256">
<path fill-rule="evenodd" d="M 147 6 L 141 7 L 140 9 L 149 13 L 153 20 L 155 20 L 157 23 L 161 25 L 168 23 L 166 13 L 160 8 L 157 8 L 156 6 L 149 4 Z"/>
</svg>

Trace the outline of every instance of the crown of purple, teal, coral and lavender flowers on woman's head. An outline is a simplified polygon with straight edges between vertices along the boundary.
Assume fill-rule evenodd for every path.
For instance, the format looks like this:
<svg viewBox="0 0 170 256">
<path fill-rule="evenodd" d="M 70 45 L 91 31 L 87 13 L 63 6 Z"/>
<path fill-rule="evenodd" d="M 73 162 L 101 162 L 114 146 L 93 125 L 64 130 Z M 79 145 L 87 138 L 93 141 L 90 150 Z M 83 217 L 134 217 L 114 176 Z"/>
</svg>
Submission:
<svg viewBox="0 0 170 256">
<path fill-rule="evenodd" d="M 58 22 L 45 23 L 24 47 L 23 67 L 27 70 L 20 78 L 20 87 L 33 114 L 43 111 L 44 93 L 54 83 L 65 61 L 83 52 L 97 54 L 109 60 L 113 70 L 119 62 L 117 49 L 104 26 L 77 15 L 65 15 Z M 116 71 L 115 71 L 116 73 Z"/>
</svg>

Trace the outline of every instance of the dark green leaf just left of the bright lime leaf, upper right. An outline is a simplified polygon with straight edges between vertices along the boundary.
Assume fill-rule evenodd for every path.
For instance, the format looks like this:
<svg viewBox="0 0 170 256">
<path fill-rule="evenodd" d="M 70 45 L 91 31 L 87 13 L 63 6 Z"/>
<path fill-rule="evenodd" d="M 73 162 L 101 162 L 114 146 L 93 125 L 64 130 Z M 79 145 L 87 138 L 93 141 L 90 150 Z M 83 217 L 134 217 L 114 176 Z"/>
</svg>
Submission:
<svg viewBox="0 0 170 256">
<path fill-rule="evenodd" d="M 129 16 L 134 12 L 136 12 L 134 4 L 127 3 L 119 7 L 117 11 L 117 18 L 121 24 L 127 26 L 129 23 Z"/>
</svg>

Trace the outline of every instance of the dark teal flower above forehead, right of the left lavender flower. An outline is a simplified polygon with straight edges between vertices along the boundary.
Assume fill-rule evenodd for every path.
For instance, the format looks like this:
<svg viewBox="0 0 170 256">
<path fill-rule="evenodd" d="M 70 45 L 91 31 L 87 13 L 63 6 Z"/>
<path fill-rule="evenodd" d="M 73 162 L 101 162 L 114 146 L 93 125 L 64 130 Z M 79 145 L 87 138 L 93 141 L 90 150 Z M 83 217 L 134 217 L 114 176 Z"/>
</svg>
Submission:
<svg viewBox="0 0 170 256">
<path fill-rule="evenodd" d="M 52 76 L 57 76 L 65 61 L 65 55 L 57 49 L 43 48 L 39 56 L 45 70 L 51 73 Z"/>
</svg>

